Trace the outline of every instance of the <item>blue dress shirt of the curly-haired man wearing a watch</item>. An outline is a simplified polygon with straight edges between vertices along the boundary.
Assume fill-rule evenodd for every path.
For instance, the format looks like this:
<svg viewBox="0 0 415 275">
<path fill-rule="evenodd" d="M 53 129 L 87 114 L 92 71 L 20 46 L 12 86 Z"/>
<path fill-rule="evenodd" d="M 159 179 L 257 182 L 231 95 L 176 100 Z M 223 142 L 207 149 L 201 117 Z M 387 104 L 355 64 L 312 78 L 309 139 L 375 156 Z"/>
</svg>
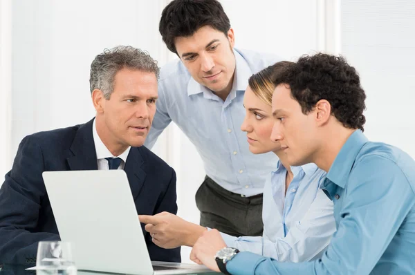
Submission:
<svg viewBox="0 0 415 275">
<path fill-rule="evenodd" d="M 322 186 L 334 202 L 337 231 L 322 258 L 278 263 L 250 252 L 231 274 L 415 274 L 415 161 L 360 130 L 344 144 Z"/>
</svg>

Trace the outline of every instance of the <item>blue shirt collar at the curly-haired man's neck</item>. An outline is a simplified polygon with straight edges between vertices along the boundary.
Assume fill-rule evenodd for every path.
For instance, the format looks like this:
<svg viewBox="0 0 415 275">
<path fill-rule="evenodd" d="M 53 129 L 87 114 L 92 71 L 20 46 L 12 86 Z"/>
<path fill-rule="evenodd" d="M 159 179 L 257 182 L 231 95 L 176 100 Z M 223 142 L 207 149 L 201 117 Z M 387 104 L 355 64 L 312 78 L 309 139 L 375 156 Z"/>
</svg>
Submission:
<svg viewBox="0 0 415 275">
<path fill-rule="evenodd" d="M 354 131 L 335 157 L 326 178 L 337 184 L 339 187 L 344 188 L 347 180 L 349 180 L 349 174 L 356 160 L 356 156 L 367 141 L 368 140 L 362 131 Z"/>
</svg>

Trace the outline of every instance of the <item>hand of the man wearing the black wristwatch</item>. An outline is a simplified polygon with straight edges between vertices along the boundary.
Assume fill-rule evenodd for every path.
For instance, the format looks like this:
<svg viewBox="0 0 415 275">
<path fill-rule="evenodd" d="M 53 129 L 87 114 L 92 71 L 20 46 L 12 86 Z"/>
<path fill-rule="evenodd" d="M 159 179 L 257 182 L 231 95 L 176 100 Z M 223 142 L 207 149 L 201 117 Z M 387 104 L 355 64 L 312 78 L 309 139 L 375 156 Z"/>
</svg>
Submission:
<svg viewBox="0 0 415 275">
<path fill-rule="evenodd" d="M 190 260 L 220 272 L 214 256 L 223 247 L 226 247 L 226 244 L 219 231 L 216 229 L 205 231 L 194 244 L 190 253 Z"/>
</svg>

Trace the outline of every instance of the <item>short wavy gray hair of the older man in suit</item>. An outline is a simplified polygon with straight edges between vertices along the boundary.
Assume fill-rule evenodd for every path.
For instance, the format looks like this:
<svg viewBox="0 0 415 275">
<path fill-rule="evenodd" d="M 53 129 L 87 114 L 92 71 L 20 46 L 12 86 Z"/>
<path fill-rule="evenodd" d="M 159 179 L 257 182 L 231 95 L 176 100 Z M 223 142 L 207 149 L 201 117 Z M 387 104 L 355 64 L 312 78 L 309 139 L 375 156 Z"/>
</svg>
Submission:
<svg viewBox="0 0 415 275">
<path fill-rule="evenodd" d="M 97 55 L 91 64 L 89 77 L 91 93 L 93 90 L 99 89 L 104 93 L 104 97 L 109 99 L 113 92 L 116 73 L 122 68 L 154 73 L 157 79 L 160 75 L 157 61 L 151 58 L 145 50 L 131 46 L 117 46 L 110 50 L 104 49 L 104 52 Z"/>
</svg>

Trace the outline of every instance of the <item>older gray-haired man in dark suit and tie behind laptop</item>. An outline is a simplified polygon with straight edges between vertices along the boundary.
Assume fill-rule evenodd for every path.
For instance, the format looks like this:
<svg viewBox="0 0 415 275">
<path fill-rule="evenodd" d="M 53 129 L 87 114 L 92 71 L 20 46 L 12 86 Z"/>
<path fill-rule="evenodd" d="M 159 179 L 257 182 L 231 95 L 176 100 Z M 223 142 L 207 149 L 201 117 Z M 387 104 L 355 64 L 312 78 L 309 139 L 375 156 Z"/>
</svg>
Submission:
<svg viewBox="0 0 415 275">
<path fill-rule="evenodd" d="M 145 51 L 104 50 L 91 64 L 95 118 L 21 141 L 0 189 L 0 265 L 34 264 L 39 241 L 59 240 L 44 171 L 124 169 L 138 214 L 176 214 L 176 173 L 142 146 L 156 112 L 158 73 Z M 156 236 L 143 233 L 151 260 L 180 262 L 180 248 L 157 247 Z"/>
</svg>

